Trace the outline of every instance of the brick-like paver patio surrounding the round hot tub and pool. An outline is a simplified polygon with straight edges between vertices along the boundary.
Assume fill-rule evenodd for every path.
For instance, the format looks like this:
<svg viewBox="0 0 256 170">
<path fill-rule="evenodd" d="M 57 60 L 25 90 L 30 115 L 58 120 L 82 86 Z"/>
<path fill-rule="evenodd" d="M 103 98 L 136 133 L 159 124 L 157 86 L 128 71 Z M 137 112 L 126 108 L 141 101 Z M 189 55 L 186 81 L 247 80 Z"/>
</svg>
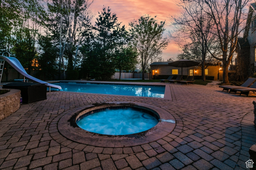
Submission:
<svg viewBox="0 0 256 170">
<path fill-rule="evenodd" d="M 165 85 L 172 100 L 55 91 L 47 93 L 47 100 L 22 104 L 0 121 L 0 169 L 248 169 L 248 151 L 256 143 L 256 95 L 228 94 L 217 86 Z M 59 133 L 64 114 L 112 101 L 160 107 L 172 113 L 175 129 L 155 142 L 124 148 L 83 145 Z"/>
</svg>

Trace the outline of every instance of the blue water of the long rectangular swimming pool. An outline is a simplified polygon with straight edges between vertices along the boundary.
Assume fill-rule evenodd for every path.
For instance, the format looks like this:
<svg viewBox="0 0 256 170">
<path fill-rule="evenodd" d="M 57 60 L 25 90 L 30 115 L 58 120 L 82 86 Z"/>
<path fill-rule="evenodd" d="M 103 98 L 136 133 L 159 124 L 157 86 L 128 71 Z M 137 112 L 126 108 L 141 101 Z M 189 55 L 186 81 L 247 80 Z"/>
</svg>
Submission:
<svg viewBox="0 0 256 170">
<path fill-rule="evenodd" d="M 137 86 L 127 84 L 94 84 L 94 83 L 54 83 L 61 86 L 61 91 L 86 92 L 98 94 L 164 97 L 165 86 Z M 53 90 L 59 90 L 51 88 Z"/>
</svg>

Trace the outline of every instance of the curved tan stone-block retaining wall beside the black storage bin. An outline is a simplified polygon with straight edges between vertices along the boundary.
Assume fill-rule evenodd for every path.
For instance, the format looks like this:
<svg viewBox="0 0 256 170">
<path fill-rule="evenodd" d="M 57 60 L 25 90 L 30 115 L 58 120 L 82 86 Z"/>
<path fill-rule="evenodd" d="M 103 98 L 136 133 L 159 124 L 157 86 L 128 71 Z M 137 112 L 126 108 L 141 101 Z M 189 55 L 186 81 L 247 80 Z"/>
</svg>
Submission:
<svg viewBox="0 0 256 170">
<path fill-rule="evenodd" d="M 16 112 L 20 107 L 21 91 L 16 89 L 5 90 L 10 91 L 0 95 L 0 121 Z"/>
</svg>

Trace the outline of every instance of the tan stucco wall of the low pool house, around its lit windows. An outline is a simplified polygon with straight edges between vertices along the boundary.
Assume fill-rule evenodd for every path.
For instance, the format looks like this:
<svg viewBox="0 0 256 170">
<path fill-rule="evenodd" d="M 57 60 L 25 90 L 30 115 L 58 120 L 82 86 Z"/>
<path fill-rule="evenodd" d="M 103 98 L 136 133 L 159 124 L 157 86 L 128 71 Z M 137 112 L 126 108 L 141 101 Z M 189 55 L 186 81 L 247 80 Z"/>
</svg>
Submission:
<svg viewBox="0 0 256 170">
<path fill-rule="evenodd" d="M 178 69 L 178 75 L 181 75 L 181 68 L 171 67 L 168 65 L 153 65 L 151 66 L 151 70 L 157 70 L 157 75 L 173 75 L 172 70 Z M 182 69 L 183 75 L 189 75 L 189 69 L 194 70 L 194 75 L 202 75 L 202 70 L 196 67 L 185 67 Z M 218 80 L 218 65 L 208 66 L 208 75 L 214 76 L 214 80 Z M 151 75 L 152 78 L 152 75 Z"/>
</svg>

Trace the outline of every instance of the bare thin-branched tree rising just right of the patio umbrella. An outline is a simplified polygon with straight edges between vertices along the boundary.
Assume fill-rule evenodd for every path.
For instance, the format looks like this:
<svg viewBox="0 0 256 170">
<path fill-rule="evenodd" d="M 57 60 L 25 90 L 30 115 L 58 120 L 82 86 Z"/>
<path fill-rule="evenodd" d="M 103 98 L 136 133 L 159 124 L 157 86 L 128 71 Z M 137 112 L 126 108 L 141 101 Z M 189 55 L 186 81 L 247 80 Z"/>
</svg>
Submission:
<svg viewBox="0 0 256 170">
<path fill-rule="evenodd" d="M 180 0 L 177 4 L 182 12 L 179 16 L 170 17 L 173 31 L 169 36 L 174 39 L 181 48 L 179 57 L 195 60 L 201 63 L 202 80 L 205 81 L 205 69 L 207 62 L 211 62 L 211 55 L 207 50 L 207 44 L 212 54 L 218 51 L 215 36 L 212 34 L 213 19 L 207 15 L 204 1 Z"/>
</svg>

